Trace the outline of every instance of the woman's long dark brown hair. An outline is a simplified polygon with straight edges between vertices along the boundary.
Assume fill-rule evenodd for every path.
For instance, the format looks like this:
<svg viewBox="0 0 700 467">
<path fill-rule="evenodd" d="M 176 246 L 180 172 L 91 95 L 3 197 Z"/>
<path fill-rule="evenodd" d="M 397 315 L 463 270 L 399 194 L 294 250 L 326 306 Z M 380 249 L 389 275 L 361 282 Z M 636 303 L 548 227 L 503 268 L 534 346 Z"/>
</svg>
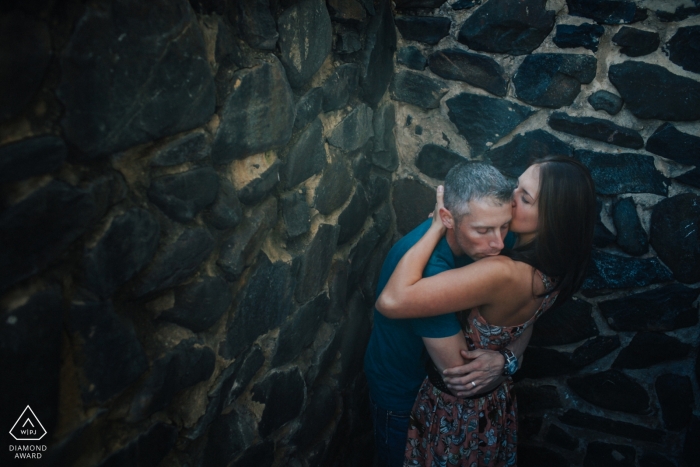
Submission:
<svg viewBox="0 0 700 467">
<path fill-rule="evenodd" d="M 591 256 L 596 221 L 595 185 L 579 161 L 551 156 L 540 166 L 537 236 L 504 252 L 556 279 L 559 296 L 554 306 L 568 300 L 583 284 Z"/>
</svg>

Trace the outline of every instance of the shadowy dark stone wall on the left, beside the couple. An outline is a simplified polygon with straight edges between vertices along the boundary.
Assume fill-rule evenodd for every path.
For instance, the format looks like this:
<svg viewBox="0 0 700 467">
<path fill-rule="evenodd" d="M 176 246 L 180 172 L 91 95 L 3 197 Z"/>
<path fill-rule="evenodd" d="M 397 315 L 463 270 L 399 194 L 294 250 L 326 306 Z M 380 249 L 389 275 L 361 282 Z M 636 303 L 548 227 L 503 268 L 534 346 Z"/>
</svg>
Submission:
<svg viewBox="0 0 700 467">
<path fill-rule="evenodd" d="M 10 444 L 55 466 L 366 465 L 362 357 L 395 231 L 390 4 L 14 3 L 3 465 Z M 8 434 L 26 405 L 36 443 Z"/>
</svg>

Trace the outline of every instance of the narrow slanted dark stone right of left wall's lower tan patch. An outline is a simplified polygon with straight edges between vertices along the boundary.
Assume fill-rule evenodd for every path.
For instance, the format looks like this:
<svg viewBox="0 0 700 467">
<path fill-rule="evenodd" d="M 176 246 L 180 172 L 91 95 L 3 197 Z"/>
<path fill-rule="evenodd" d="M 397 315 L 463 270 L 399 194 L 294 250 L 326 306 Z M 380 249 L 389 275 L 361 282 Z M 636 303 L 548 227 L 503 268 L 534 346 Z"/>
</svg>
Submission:
<svg viewBox="0 0 700 467">
<path fill-rule="evenodd" d="M 337 225 L 321 224 L 313 240 L 300 259 L 298 285 L 295 298 L 299 303 L 315 297 L 323 288 L 333 261 L 340 227 Z"/>
</svg>

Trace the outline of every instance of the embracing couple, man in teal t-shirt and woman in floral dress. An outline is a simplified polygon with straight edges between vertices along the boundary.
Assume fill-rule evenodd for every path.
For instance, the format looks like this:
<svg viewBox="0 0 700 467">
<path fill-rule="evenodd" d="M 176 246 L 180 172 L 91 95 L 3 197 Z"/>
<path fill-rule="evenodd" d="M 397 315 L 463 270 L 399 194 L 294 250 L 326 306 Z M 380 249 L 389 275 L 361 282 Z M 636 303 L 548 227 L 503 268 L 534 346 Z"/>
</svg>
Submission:
<svg viewBox="0 0 700 467">
<path fill-rule="evenodd" d="M 581 286 L 595 209 L 568 157 L 534 163 L 515 190 L 484 163 L 450 170 L 379 278 L 365 354 L 378 465 L 517 464 L 510 376 L 535 320 Z"/>
</svg>

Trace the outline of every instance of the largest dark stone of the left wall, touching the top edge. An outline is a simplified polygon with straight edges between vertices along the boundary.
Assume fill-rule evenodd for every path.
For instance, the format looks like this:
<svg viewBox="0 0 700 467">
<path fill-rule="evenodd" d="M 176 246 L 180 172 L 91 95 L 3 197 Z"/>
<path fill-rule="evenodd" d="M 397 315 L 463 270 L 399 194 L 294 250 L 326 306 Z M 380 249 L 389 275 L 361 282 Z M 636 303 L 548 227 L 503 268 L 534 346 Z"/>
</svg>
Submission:
<svg viewBox="0 0 700 467">
<path fill-rule="evenodd" d="M 214 79 L 186 0 L 88 6 L 61 54 L 66 139 L 89 158 L 204 125 Z M 152 21 L 152 18 L 159 18 Z"/>
</svg>

